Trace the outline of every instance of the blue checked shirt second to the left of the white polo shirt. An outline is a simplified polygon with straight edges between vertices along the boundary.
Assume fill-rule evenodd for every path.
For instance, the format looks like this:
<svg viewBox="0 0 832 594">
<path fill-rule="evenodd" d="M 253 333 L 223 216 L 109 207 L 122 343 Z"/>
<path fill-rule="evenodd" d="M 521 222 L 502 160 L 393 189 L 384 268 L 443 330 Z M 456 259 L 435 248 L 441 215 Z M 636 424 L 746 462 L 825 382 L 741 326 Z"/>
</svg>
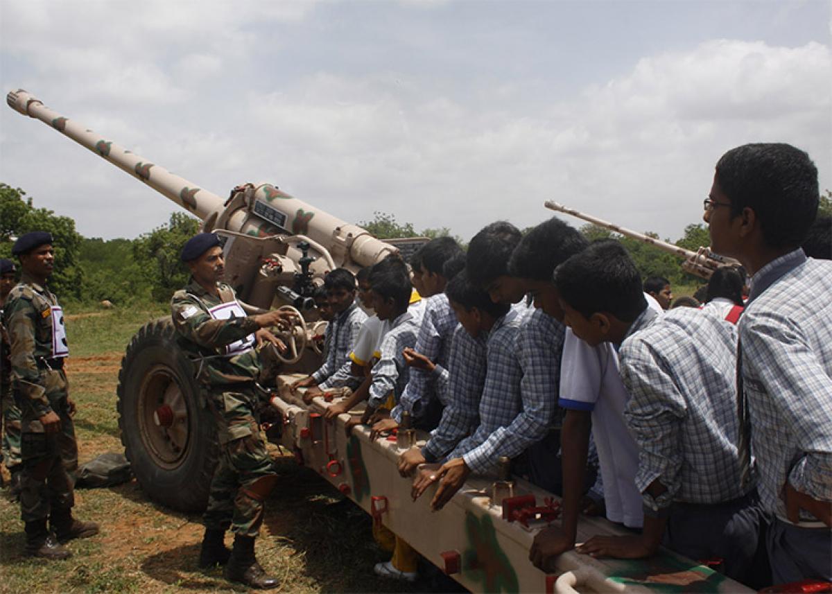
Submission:
<svg viewBox="0 0 832 594">
<path fill-rule="evenodd" d="M 522 315 L 511 309 L 508 314 L 497 320 L 488 334 L 485 384 L 479 402 L 479 426 L 472 435 L 459 442 L 448 456 L 463 458 L 468 468 L 475 472 L 497 463 L 496 459 L 490 461 L 478 457 L 477 448 L 483 445 L 497 428 L 508 427 L 520 413 L 522 368 L 518 358 L 517 342 L 522 319 Z M 472 452 L 473 456 L 468 456 L 468 453 Z"/>
</svg>

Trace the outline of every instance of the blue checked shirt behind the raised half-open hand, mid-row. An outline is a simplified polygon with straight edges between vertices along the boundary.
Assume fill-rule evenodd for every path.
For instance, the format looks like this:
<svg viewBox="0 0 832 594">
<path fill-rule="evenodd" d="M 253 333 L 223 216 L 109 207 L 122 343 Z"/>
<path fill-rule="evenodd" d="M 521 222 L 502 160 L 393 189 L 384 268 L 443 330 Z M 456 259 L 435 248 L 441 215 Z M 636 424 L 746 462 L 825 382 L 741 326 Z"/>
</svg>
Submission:
<svg viewBox="0 0 832 594">
<path fill-rule="evenodd" d="M 425 299 L 422 325 L 419 328 L 418 339 L 414 350 L 444 367 L 448 364 L 451 336 L 456 328 L 457 316 L 453 314 L 448 297 L 444 293 L 433 295 Z M 411 368 L 408 385 L 404 388 L 402 398 L 390 416 L 397 423 L 401 422 L 401 414 L 409 410 L 414 417 L 420 416 L 431 398 L 439 398 L 443 404 L 447 397 L 440 391 L 444 384 L 437 384 L 435 376 L 422 369 Z"/>
</svg>

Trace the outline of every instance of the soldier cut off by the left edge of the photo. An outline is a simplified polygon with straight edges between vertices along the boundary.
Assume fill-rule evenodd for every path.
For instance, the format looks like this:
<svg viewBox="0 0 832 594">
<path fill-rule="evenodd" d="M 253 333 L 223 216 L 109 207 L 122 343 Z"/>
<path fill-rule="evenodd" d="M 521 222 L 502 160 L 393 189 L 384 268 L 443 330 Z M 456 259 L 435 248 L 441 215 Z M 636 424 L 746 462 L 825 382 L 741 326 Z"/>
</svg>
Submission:
<svg viewBox="0 0 832 594">
<path fill-rule="evenodd" d="M 12 364 L 8 359 L 8 334 L 2 324 L 2 309 L 9 291 L 17 280 L 14 278 L 15 267 L 12 260 L 0 259 L 0 433 L 2 433 L 2 454 L 0 460 L 6 464 L 12 475 L 12 497 L 20 495 L 20 408 L 12 396 Z M 0 474 L 2 485 L 2 474 Z"/>
</svg>

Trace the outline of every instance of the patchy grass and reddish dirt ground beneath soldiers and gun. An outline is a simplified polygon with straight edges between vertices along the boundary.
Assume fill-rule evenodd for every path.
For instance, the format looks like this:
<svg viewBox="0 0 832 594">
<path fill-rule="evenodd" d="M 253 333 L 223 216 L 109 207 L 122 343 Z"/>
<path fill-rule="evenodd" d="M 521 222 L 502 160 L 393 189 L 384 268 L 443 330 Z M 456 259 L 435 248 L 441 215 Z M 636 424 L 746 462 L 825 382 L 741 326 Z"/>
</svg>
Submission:
<svg viewBox="0 0 832 594">
<path fill-rule="evenodd" d="M 121 452 L 116 383 L 121 352 L 132 334 L 166 307 L 67 311 L 72 357 L 67 369 L 81 463 Z M 275 452 L 275 455 L 277 453 Z M 388 557 L 375 547 L 369 516 L 316 473 L 279 457 L 280 483 L 266 503 L 257 542 L 260 562 L 283 586 L 272 592 L 433 592 L 453 587 L 427 581 L 409 586 L 373 573 Z M 22 557 L 20 507 L 0 497 L 0 592 L 245 592 L 219 569 L 196 567 L 200 517 L 150 502 L 133 481 L 78 490 L 77 517 L 98 522 L 101 534 L 68 547 L 73 557 L 45 562 Z M 228 542 L 230 542 L 230 537 Z"/>
</svg>

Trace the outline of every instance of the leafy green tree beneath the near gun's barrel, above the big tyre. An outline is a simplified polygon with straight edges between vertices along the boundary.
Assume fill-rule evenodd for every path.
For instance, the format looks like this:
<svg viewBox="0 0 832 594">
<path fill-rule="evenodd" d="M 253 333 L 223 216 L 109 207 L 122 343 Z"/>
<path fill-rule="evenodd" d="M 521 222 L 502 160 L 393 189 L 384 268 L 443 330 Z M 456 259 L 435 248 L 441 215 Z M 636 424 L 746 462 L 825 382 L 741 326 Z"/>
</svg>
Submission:
<svg viewBox="0 0 832 594">
<path fill-rule="evenodd" d="M 201 221 L 184 212 L 171 214 L 167 225 L 140 235 L 133 242 L 133 259 L 141 275 L 151 285 L 151 297 L 156 301 L 171 299 L 181 289 L 190 273 L 179 260 L 182 246 L 200 232 Z"/>
</svg>

